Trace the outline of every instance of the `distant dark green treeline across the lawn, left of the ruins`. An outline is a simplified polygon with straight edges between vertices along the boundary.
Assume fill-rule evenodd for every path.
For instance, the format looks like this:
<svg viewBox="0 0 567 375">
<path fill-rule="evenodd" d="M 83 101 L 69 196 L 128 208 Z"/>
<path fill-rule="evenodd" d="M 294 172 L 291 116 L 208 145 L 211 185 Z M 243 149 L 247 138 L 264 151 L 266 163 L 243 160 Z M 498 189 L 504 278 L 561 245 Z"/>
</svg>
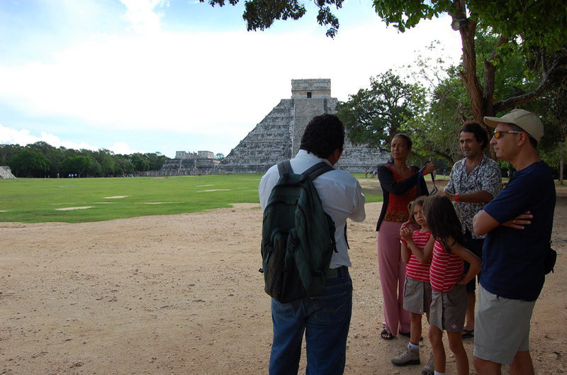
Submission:
<svg viewBox="0 0 567 375">
<path fill-rule="evenodd" d="M 0 165 L 16 177 L 123 177 L 160 169 L 168 157 L 159 152 L 120 155 L 98 151 L 53 147 L 40 141 L 30 145 L 0 145 Z"/>
</svg>

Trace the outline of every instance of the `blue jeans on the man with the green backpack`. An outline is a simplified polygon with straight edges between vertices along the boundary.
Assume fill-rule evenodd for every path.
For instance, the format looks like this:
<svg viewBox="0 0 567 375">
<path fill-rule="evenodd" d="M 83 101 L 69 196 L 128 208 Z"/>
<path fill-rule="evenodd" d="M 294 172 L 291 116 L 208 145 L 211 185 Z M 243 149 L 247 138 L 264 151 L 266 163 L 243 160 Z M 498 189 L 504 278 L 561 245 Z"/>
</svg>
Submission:
<svg viewBox="0 0 567 375">
<path fill-rule="evenodd" d="M 342 374 L 347 358 L 347 336 L 352 315 L 352 280 L 348 267 L 328 278 L 325 289 L 301 300 L 279 303 L 271 299 L 274 342 L 270 374 L 297 374 L 303 332 L 307 344 L 305 374 Z"/>
</svg>

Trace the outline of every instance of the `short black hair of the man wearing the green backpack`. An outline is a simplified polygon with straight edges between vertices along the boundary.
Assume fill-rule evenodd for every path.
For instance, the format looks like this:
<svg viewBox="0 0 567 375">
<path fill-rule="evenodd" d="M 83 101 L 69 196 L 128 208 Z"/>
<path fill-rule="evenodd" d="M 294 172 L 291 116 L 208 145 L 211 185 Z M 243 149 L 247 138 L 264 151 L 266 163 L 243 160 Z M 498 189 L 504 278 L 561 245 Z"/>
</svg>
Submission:
<svg viewBox="0 0 567 375">
<path fill-rule="evenodd" d="M 322 159 L 344 147 L 344 125 L 337 115 L 315 116 L 309 121 L 299 148 Z"/>
</svg>

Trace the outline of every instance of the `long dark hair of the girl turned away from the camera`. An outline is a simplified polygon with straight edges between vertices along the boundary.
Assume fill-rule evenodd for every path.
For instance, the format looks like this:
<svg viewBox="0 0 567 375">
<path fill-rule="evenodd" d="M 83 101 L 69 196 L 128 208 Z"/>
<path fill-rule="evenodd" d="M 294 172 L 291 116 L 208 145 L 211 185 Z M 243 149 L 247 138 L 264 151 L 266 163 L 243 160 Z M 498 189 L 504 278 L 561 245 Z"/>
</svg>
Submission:
<svg viewBox="0 0 567 375">
<path fill-rule="evenodd" d="M 423 206 L 427 227 L 435 240 L 441 242 L 447 252 L 451 252 L 449 246 L 454 243 L 447 243 L 448 237 L 453 237 L 456 242 L 463 243 L 463 227 L 459 218 L 456 216 L 455 208 L 451 200 L 442 194 L 428 196 Z"/>
</svg>

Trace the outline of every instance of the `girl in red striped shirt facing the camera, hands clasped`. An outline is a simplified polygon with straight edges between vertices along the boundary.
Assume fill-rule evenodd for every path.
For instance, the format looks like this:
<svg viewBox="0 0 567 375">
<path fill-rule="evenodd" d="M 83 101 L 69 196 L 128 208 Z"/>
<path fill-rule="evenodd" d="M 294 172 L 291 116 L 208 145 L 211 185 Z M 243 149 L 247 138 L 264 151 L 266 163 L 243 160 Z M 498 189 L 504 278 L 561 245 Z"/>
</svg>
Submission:
<svg viewBox="0 0 567 375">
<path fill-rule="evenodd" d="M 422 315 L 429 321 L 431 303 L 430 264 L 433 237 L 423 213 L 425 196 L 410 203 L 410 220 L 400 228 L 401 255 L 405 267 L 403 308 L 410 312 L 410 343 L 403 354 L 392 359 L 395 366 L 420 364 Z M 415 226 L 419 228 L 415 229 Z"/>
</svg>

